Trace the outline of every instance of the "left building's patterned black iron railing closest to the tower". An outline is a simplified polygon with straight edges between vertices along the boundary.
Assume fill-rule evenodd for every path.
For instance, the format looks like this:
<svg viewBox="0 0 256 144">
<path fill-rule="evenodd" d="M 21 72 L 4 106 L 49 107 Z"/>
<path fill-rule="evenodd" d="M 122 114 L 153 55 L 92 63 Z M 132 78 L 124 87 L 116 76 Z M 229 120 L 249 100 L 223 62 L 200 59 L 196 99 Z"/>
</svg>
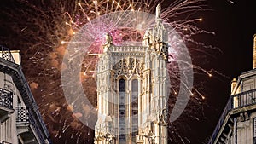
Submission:
<svg viewBox="0 0 256 144">
<path fill-rule="evenodd" d="M 17 124 L 30 124 L 32 125 L 33 130 L 35 130 L 38 135 L 40 142 L 45 143 L 43 131 L 40 130 L 38 123 L 35 120 L 35 116 L 32 115 L 31 109 L 28 107 L 16 107 L 17 110 Z M 41 122 L 43 123 L 43 122 Z M 1 144 L 1 143 L 0 143 Z"/>
</svg>

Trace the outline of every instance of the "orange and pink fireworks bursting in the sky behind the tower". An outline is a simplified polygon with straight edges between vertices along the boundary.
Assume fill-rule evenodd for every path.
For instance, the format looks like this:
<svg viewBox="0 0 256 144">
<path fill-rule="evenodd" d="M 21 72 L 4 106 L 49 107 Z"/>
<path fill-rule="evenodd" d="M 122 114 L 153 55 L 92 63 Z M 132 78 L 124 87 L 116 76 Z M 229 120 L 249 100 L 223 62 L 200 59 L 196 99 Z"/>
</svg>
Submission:
<svg viewBox="0 0 256 144">
<path fill-rule="evenodd" d="M 85 56 L 83 61 L 77 64 L 81 67 L 78 73 L 80 79 L 74 79 L 70 83 L 77 83 L 76 80 L 80 81 L 84 88 L 84 94 L 96 108 L 95 72 L 97 56 L 102 53 L 102 43 L 104 43 L 102 37 L 109 32 L 113 37 L 113 43 L 121 45 L 124 42 L 141 42 L 145 32 L 142 27 L 137 29 L 132 29 L 129 26 L 119 28 L 116 25 L 119 22 L 118 17 L 116 17 L 115 23 L 108 23 L 108 25 L 105 25 L 106 21 L 98 18 L 119 12 L 154 14 L 158 3 L 161 3 L 163 8 L 161 19 L 164 20 L 166 26 L 172 26 L 173 31 L 170 32 L 172 36 L 178 36 L 176 39 L 172 37 L 173 40 L 168 42 L 172 47 L 169 49 L 168 63 L 172 85 L 168 106 L 172 112 L 177 95 L 181 90 L 179 85 L 183 83 L 179 72 L 179 61 L 177 61 L 177 55 L 181 55 L 183 50 L 177 49 L 177 40 L 187 45 L 192 58 L 194 50 L 213 49 L 212 46 L 193 39 L 197 34 L 213 34 L 195 25 L 201 22 L 202 18 L 195 18 L 193 14 L 206 9 L 203 4 L 204 0 L 172 2 L 161 0 L 60 0 L 55 2 L 50 0 L 32 2 L 11 0 L 1 8 L 2 27 L 8 27 L 6 30 L 1 30 L 1 44 L 11 49 L 20 49 L 23 71 L 54 143 L 93 143 L 94 141 L 94 130 L 79 119 L 96 118 L 96 111 L 82 103 L 79 104 L 76 98 L 73 98 L 73 102 L 68 103 L 63 94 L 66 85 L 61 83 L 61 72 L 67 69 L 67 65 L 62 63 L 66 49 L 70 48 L 72 43 L 84 43 L 73 41 L 74 37 L 78 37 L 77 34 L 81 35 L 81 29 L 84 26 L 90 26 L 90 31 L 87 29 L 82 31 L 87 32 L 84 34 L 90 35 L 90 32 L 93 32 L 93 39 L 84 39 L 90 41 L 90 46 L 86 51 L 81 51 L 85 53 Z M 102 21 L 96 22 L 95 20 Z M 131 21 L 127 21 L 127 23 L 131 23 Z M 144 23 L 150 22 L 144 21 Z M 71 59 L 72 57 L 69 60 Z M 196 66 L 195 63 L 189 64 L 189 66 L 193 68 L 195 74 L 200 73 L 212 77 L 212 73 L 207 72 L 201 66 Z M 169 124 L 170 143 L 190 143 L 189 138 L 183 135 L 183 131 L 189 127 L 186 121 L 188 119 L 200 120 L 203 117 L 202 107 L 206 104 L 205 96 L 201 94 L 203 93 L 201 85 L 194 85 L 189 93 L 191 98 L 183 114 L 177 121 Z M 75 107 L 82 107 L 83 112 L 74 112 Z"/>
</svg>

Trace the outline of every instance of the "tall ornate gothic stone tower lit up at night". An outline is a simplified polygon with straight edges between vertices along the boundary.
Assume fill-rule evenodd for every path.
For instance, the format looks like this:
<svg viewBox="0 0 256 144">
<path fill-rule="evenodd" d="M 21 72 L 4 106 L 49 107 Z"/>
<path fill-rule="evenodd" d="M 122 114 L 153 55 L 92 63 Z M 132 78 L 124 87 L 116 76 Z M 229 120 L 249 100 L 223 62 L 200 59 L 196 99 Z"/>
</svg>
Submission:
<svg viewBox="0 0 256 144">
<path fill-rule="evenodd" d="M 160 5 L 155 20 L 141 46 L 115 46 L 106 35 L 96 75 L 97 144 L 167 144 L 168 47 Z"/>
</svg>

